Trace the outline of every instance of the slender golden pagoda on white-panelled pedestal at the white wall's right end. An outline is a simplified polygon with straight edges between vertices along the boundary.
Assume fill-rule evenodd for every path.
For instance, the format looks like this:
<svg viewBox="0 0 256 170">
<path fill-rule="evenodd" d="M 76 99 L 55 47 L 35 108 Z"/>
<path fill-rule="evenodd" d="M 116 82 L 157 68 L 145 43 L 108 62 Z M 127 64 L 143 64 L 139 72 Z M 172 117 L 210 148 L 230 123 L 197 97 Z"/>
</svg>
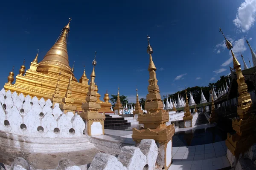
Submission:
<svg viewBox="0 0 256 170">
<path fill-rule="evenodd" d="M 95 87 L 95 66 L 96 66 L 96 52 L 93 60 L 93 71 L 90 75 L 90 86 L 85 102 L 82 104 L 83 112 L 81 112 L 81 118 L 83 118 L 88 135 L 104 135 L 104 120 L 105 112 L 99 113 L 100 104 L 97 103 L 96 87 Z M 101 128 L 99 130 L 93 130 L 95 128 Z"/>
</svg>

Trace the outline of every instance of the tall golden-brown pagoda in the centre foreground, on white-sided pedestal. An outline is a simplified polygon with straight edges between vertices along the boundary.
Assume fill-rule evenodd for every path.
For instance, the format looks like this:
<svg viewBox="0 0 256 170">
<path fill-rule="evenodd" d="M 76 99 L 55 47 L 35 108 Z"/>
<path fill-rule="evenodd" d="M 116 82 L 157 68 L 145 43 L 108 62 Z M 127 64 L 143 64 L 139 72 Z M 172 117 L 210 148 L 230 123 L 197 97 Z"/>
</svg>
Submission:
<svg viewBox="0 0 256 170">
<path fill-rule="evenodd" d="M 163 101 L 161 100 L 160 89 L 157 85 L 157 68 L 152 60 L 151 54 L 153 49 L 149 43 L 149 38 L 147 49 L 149 54 L 149 86 L 145 101 L 145 109 L 148 112 L 146 114 L 139 114 L 139 124 L 144 124 L 144 128 L 140 130 L 133 128 L 132 139 L 137 143 L 142 139 L 154 139 L 157 146 L 159 146 L 159 152 L 164 153 L 164 156 L 157 159 L 157 163 L 160 166 L 164 166 L 167 170 L 172 162 L 169 156 L 172 155 L 172 136 L 175 133 L 175 128 L 174 124 L 166 125 L 166 122 L 169 121 L 169 112 L 163 110 Z"/>
</svg>

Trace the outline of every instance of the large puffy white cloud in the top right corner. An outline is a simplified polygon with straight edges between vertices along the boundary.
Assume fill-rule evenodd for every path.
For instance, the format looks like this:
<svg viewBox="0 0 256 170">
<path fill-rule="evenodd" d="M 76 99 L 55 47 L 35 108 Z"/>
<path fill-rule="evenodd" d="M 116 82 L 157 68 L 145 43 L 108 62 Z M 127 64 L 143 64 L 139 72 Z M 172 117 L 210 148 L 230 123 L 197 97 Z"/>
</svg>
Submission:
<svg viewBox="0 0 256 170">
<path fill-rule="evenodd" d="M 237 9 L 236 18 L 233 23 L 242 32 L 247 32 L 256 20 L 256 0 L 244 0 Z"/>
</svg>

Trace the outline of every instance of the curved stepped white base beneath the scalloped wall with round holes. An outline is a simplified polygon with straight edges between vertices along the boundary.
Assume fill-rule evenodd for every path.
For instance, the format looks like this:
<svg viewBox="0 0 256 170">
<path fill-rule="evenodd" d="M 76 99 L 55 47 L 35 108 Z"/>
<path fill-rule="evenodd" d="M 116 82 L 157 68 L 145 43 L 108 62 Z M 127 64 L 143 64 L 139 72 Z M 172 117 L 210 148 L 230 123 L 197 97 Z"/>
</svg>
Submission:
<svg viewBox="0 0 256 170">
<path fill-rule="evenodd" d="M 35 153 L 70 152 L 95 148 L 90 143 L 90 138 L 43 138 L 29 137 L 0 131 L 0 145 L 14 150 L 29 151 Z"/>
</svg>

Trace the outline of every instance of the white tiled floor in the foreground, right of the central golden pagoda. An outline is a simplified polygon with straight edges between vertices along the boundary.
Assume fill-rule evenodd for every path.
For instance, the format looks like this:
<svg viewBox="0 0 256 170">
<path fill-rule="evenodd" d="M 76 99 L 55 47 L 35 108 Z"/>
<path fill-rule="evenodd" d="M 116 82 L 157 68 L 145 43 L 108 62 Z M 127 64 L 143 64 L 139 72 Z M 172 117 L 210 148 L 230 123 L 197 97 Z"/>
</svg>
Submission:
<svg viewBox="0 0 256 170">
<path fill-rule="evenodd" d="M 225 141 L 189 147 L 173 147 L 168 170 L 218 170 L 229 167 Z"/>
</svg>

